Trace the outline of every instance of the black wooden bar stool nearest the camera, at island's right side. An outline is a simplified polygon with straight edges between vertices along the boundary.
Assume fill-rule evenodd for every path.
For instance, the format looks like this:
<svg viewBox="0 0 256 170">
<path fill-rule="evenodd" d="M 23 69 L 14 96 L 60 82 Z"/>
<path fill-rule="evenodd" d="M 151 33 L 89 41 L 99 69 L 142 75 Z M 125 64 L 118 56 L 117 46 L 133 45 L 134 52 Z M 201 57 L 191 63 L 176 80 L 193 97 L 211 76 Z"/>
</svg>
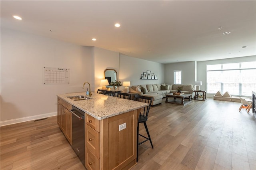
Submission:
<svg viewBox="0 0 256 170">
<path fill-rule="evenodd" d="M 152 140 L 151 140 L 150 135 L 149 135 L 148 127 L 147 127 L 147 124 L 146 124 L 146 121 L 148 121 L 148 113 L 149 113 L 149 109 L 150 109 L 150 106 L 151 106 L 151 103 L 152 103 L 152 97 L 135 95 L 134 100 L 140 101 L 140 102 L 144 102 L 144 103 L 148 103 L 148 104 L 149 104 L 149 106 L 144 107 L 144 108 L 140 111 L 140 115 L 139 115 L 139 117 L 138 117 L 138 125 L 137 125 L 137 162 L 138 162 L 138 146 L 139 146 L 140 144 L 142 144 L 142 143 L 144 143 L 144 142 L 146 142 L 146 141 L 149 140 L 152 149 L 154 148 L 154 147 L 153 147 L 153 144 L 152 144 Z M 144 124 L 144 127 L 145 127 L 145 129 L 146 129 L 146 132 L 147 132 L 147 134 L 148 134 L 148 137 L 139 134 L 139 124 L 140 124 L 140 123 L 143 123 L 143 124 Z M 142 136 L 142 137 L 145 138 L 146 140 L 143 140 L 142 142 L 139 142 L 139 136 Z"/>
</svg>

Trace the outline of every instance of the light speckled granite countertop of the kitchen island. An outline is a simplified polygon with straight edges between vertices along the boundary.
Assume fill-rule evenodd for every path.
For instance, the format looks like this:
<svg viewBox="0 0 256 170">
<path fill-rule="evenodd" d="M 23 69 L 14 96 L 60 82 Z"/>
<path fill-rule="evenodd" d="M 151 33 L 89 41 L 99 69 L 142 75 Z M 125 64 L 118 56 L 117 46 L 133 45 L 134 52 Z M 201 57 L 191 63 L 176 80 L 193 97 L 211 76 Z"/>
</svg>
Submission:
<svg viewBox="0 0 256 170">
<path fill-rule="evenodd" d="M 74 101 L 68 98 L 68 96 L 78 95 L 86 96 L 86 93 L 66 93 L 57 96 L 98 120 L 120 115 L 149 105 L 147 103 L 97 93 L 92 93 L 91 99 L 88 100 Z"/>
</svg>

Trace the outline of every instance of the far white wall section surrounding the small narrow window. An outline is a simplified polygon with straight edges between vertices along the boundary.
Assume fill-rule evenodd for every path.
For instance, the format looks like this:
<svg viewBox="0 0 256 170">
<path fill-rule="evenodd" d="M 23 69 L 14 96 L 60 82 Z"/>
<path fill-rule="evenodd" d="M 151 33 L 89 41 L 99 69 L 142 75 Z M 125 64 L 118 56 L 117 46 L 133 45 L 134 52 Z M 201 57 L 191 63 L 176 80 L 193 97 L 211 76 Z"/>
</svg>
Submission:
<svg viewBox="0 0 256 170">
<path fill-rule="evenodd" d="M 194 85 L 196 81 L 196 61 L 165 64 L 165 83 L 174 83 L 174 70 L 182 70 L 182 84 Z"/>
</svg>

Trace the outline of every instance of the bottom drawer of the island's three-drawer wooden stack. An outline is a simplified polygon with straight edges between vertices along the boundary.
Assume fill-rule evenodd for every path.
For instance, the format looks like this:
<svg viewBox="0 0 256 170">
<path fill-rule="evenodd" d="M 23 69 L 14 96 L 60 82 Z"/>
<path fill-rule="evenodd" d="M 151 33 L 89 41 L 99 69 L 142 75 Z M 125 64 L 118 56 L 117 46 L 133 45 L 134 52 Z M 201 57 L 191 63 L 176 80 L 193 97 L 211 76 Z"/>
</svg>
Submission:
<svg viewBox="0 0 256 170">
<path fill-rule="evenodd" d="M 87 170 L 99 170 L 100 169 L 100 160 L 92 154 L 90 149 L 85 147 L 85 167 Z"/>
</svg>

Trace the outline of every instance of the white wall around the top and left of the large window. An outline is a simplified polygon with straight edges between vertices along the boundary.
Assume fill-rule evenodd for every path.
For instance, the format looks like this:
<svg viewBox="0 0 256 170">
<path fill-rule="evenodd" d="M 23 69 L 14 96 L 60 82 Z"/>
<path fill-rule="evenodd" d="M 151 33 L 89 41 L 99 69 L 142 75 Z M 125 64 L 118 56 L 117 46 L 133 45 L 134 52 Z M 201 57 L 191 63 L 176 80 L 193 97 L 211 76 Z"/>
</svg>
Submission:
<svg viewBox="0 0 256 170">
<path fill-rule="evenodd" d="M 248 57 L 236 57 L 229 59 L 216 59 L 209 61 L 198 61 L 197 62 L 197 79 L 198 81 L 202 81 L 201 90 L 206 90 L 206 65 L 210 64 L 222 64 L 222 63 L 238 63 L 238 62 L 246 62 L 246 61 L 256 61 L 256 56 L 248 56 Z"/>
</svg>

